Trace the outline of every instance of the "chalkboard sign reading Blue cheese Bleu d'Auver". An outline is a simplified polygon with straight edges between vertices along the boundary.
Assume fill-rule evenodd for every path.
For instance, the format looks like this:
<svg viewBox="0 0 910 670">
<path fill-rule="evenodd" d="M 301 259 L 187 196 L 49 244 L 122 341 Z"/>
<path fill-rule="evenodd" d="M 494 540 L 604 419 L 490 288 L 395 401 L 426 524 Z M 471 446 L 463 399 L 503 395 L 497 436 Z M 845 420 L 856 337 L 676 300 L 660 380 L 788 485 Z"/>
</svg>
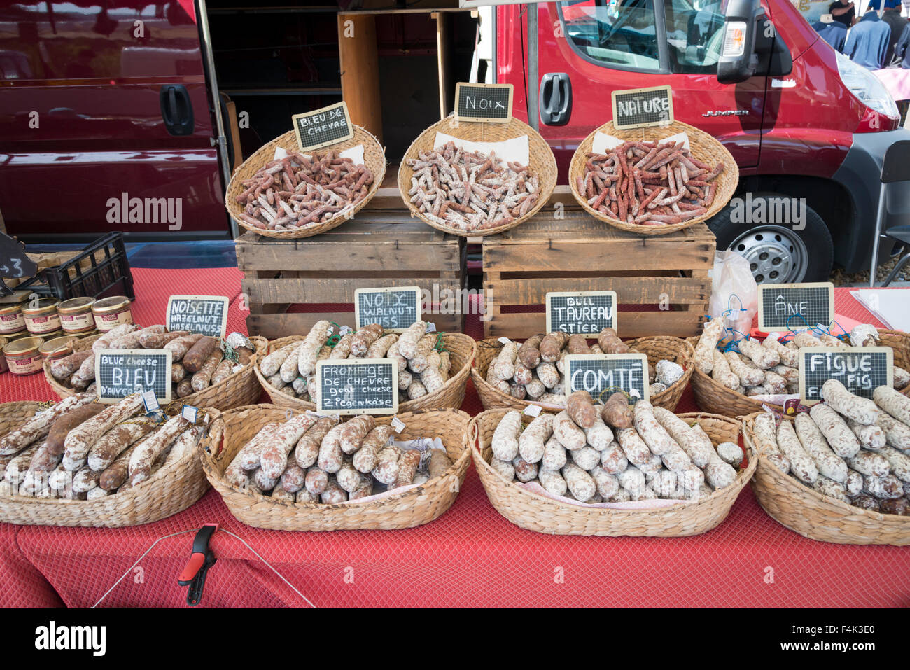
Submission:
<svg viewBox="0 0 910 670">
<path fill-rule="evenodd" d="M 95 352 L 98 400 L 119 402 L 136 391 L 155 391 L 171 401 L 171 352 L 164 349 L 104 349 Z"/>
</svg>

